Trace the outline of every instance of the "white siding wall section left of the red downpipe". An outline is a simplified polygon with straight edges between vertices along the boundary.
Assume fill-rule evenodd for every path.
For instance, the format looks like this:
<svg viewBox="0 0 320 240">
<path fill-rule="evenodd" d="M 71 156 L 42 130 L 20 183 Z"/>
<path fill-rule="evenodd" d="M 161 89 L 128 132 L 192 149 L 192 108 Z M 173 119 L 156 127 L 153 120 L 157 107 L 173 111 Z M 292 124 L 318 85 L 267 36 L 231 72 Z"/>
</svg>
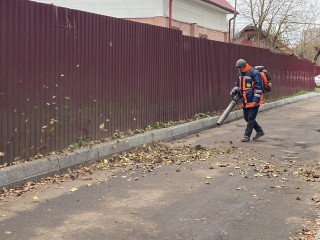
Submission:
<svg viewBox="0 0 320 240">
<path fill-rule="evenodd" d="M 163 16 L 163 0 L 32 0 L 117 18 Z"/>
</svg>

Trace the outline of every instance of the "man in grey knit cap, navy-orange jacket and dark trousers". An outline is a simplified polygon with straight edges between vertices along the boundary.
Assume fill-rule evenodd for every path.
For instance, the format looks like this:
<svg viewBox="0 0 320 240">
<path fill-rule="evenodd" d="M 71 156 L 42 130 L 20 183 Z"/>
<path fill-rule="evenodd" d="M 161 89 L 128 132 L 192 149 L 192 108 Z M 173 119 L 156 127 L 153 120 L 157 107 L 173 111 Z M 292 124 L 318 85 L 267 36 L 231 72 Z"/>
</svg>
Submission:
<svg viewBox="0 0 320 240">
<path fill-rule="evenodd" d="M 249 142 L 253 129 L 257 132 L 253 140 L 264 135 L 261 126 L 256 121 L 259 106 L 263 104 L 263 83 L 260 73 L 244 59 L 236 62 L 236 68 L 239 74 L 230 95 L 239 94 L 242 98 L 243 118 L 247 122 L 247 127 L 241 141 Z"/>
</svg>

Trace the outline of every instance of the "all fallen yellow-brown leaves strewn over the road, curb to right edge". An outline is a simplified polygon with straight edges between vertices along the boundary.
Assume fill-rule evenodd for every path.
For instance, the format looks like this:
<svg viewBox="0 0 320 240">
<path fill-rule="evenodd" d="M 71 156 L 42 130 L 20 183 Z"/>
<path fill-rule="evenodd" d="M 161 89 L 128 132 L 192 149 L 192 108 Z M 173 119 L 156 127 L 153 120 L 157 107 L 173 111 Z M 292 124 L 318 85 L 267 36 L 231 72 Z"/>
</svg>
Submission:
<svg viewBox="0 0 320 240">
<path fill-rule="evenodd" d="M 208 161 L 208 169 L 229 169 L 228 176 L 233 177 L 239 174 L 241 177 L 255 178 L 278 178 L 279 185 L 270 188 L 285 187 L 285 183 L 291 177 L 302 177 L 305 181 L 320 182 L 319 163 L 301 164 L 297 163 L 298 156 L 292 158 L 291 153 L 285 156 L 275 157 L 271 155 L 268 159 L 263 159 L 262 155 L 254 149 L 241 149 L 235 147 L 232 142 L 216 143 L 215 147 L 206 148 L 201 145 L 175 145 L 162 142 L 152 142 L 144 144 L 129 152 L 114 155 L 108 159 L 99 160 L 94 164 L 68 169 L 68 172 L 61 175 L 54 175 L 42 178 L 36 182 L 27 182 L 23 186 L 14 189 L 3 188 L 0 194 L 0 202 L 8 201 L 7 197 L 21 196 L 26 192 L 37 191 L 51 184 L 61 184 L 63 182 L 81 179 L 92 181 L 92 174 L 95 171 L 114 171 L 121 169 L 122 172 L 139 172 L 146 174 L 154 172 L 157 167 L 165 164 L 175 164 L 176 172 L 180 172 L 179 166 L 183 163 L 194 161 Z M 227 156 L 227 157 L 226 157 Z M 138 181 L 139 177 L 131 178 L 130 175 L 122 176 L 127 181 Z M 204 183 L 210 184 L 211 176 L 204 176 Z M 86 183 L 90 187 L 92 183 Z M 236 190 L 245 190 L 245 186 L 239 186 Z M 77 191 L 72 188 L 70 192 Z M 301 200 L 300 197 L 297 199 Z M 314 197 L 316 207 L 320 207 L 319 197 Z M 35 201 L 38 202 L 38 199 Z M 317 222 L 319 228 L 319 221 Z M 298 238 L 292 240 L 309 240 L 314 236 L 315 231 L 302 228 Z"/>
</svg>

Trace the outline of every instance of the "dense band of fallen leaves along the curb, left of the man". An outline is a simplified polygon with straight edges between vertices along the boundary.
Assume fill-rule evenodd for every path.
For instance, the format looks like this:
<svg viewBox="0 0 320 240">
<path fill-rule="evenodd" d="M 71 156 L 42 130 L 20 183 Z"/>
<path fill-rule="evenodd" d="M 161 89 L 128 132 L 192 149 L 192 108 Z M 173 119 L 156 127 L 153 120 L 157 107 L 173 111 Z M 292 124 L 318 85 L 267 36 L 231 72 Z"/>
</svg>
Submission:
<svg viewBox="0 0 320 240">
<path fill-rule="evenodd" d="M 112 171 L 115 168 L 121 168 L 123 171 L 132 171 L 139 169 L 140 173 L 145 174 L 154 171 L 158 165 L 176 164 L 179 166 L 184 162 L 204 161 L 214 155 L 228 154 L 234 149 L 233 146 L 224 149 L 207 149 L 200 145 L 173 147 L 161 142 L 152 142 L 144 144 L 130 152 L 124 152 L 108 159 L 99 160 L 91 165 L 68 169 L 66 173 L 61 175 L 55 174 L 50 177 L 41 178 L 35 182 L 27 182 L 23 186 L 12 189 L 3 188 L 0 194 L 0 202 L 6 201 L 6 197 L 21 196 L 26 192 L 37 191 L 39 188 L 49 186 L 50 184 L 61 184 L 75 179 L 91 181 L 93 180 L 92 174 L 99 170 Z M 134 180 L 138 180 L 138 178 Z M 86 184 L 86 186 L 91 186 L 91 183 Z M 70 191 L 75 192 L 76 190 L 71 189 Z"/>
</svg>

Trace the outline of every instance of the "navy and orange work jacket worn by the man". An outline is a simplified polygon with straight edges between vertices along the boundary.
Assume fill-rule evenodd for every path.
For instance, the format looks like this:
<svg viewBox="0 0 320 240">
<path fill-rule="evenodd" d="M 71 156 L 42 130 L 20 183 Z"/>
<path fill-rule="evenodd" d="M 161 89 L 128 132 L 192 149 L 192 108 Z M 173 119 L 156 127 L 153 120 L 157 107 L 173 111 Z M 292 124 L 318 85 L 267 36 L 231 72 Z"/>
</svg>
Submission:
<svg viewBox="0 0 320 240">
<path fill-rule="evenodd" d="M 242 96 L 242 107 L 252 108 L 263 104 L 263 83 L 260 73 L 248 64 L 238 75 L 236 86 Z"/>
</svg>

